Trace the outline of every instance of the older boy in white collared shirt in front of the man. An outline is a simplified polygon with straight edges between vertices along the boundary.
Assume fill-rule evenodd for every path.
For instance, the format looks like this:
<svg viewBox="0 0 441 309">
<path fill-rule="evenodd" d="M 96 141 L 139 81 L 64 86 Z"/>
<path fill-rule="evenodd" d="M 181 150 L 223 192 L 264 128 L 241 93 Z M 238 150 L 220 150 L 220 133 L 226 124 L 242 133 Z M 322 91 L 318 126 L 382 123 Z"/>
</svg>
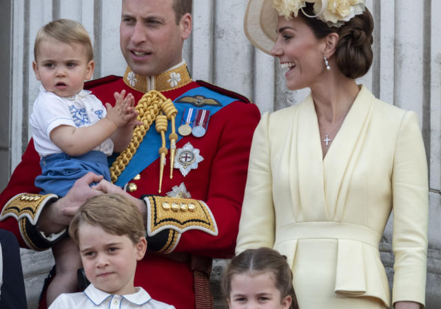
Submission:
<svg viewBox="0 0 441 309">
<path fill-rule="evenodd" d="M 69 234 L 91 284 L 84 292 L 60 295 L 50 309 L 174 308 L 134 287 L 136 261 L 143 259 L 147 241 L 141 214 L 125 197 L 92 197 L 72 219 Z"/>
</svg>

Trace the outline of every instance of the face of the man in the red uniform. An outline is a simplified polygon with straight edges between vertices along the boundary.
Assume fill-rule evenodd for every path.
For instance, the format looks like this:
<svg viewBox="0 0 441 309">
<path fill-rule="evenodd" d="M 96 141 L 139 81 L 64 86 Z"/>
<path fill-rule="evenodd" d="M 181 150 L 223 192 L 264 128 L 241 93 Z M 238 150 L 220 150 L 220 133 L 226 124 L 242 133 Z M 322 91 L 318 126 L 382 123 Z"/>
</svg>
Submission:
<svg viewBox="0 0 441 309">
<path fill-rule="evenodd" d="M 172 5 L 173 0 L 123 0 L 121 51 L 136 74 L 156 75 L 182 61 L 192 18 L 185 14 L 176 24 Z"/>
</svg>

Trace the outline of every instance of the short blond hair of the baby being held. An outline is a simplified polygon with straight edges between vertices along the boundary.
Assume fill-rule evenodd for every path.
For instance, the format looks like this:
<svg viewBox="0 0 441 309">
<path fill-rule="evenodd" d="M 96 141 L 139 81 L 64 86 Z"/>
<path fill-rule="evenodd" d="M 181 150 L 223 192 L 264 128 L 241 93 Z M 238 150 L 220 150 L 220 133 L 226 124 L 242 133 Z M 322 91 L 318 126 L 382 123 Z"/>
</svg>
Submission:
<svg viewBox="0 0 441 309">
<path fill-rule="evenodd" d="M 39 56 L 39 46 L 42 41 L 48 41 L 50 39 L 56 39 L 61 43 L 81 44 L 85 47 L 85 53 L 88 57 L 88 61 L 94 59 L 94 49 L 92 48 L 92 42 L 88 32 L 83 25 L 77 21 L 70 19 L 57 19 L 47 23 L 41 27 L 37 32 L 37 37 L 34 42 L 34 60 L 37 61 Z"/>
</svg>

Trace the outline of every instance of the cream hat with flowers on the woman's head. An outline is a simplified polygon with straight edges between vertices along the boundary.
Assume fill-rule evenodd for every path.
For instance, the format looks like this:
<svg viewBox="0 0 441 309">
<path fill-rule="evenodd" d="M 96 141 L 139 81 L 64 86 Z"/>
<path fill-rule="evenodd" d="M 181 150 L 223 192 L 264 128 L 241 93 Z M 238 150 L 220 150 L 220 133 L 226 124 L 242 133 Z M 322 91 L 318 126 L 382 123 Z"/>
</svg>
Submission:
<svg viewBox="0 0 441 309">
<path fill-rule="evenodd" d="M 277 38 L 278 17 L 297 17 L 307 2 L 314 3 L 314 15 L 303 14 L 318 18 L 329 27 L 340 27 L 365 10 L 365 0 L 249 0 L 244 19 L 247 38 L 256 48 L 269 54 Z"/>
</svg>

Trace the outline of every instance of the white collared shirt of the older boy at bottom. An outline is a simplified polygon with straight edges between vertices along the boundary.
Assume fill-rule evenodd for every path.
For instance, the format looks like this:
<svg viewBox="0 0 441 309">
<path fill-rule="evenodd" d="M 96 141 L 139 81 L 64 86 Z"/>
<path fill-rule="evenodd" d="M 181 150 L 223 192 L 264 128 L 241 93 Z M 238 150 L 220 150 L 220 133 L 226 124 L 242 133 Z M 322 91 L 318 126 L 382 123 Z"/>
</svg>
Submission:
<svg viewBox="0 0 441 309">
<path fill-rule="evenodd" d="M 130 295 L 111 295 L 103 292 L 90 284 L 84 292 L 61 294 L 50 305 L 49 309 L 175 309 L 161 301 L 155 301 L 141 287 L 136 287 L 136 292 Z"/>
</svg>

